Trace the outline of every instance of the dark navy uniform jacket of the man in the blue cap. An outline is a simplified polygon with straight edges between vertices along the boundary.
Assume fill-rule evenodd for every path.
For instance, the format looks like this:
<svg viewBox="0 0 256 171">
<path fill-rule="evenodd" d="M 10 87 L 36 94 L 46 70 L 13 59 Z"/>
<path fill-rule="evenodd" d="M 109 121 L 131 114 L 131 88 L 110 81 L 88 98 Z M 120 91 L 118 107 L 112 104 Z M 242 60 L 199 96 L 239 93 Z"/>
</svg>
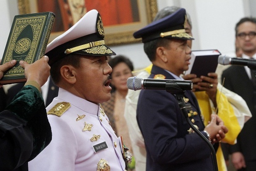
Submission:
<svg viewBox="0 0 256 171">
<path fill-rule="evenodd" d="M 163 74 L 175 79 L 165 70 L 153 66 L 149 78 Z M 198 113 L 194 125 L 207 137 L 196 97 L 191 91 L 192 111 Z M 192 119 L 192 118 L 190 118 Z M 189 125 L 175 97 L 165 90 L 142 90 L 137 105 L 137 121 L 147 150 L 147 171 L 162 170 L 214 170 L 211 151 L 196 133 L 188 133 Z"/>
</svg>

